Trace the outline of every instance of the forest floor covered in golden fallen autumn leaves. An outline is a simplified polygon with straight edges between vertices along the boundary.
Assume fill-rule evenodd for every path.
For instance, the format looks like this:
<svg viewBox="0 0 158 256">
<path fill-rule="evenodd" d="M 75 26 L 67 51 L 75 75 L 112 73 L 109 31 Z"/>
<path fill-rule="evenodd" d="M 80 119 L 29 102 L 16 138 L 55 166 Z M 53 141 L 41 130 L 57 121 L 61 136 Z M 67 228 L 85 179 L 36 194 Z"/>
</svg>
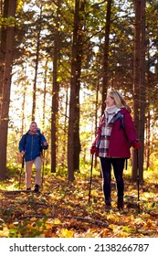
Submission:
<svg viewBox="0 0 158 256">
<path fill-rule="evenodd" d="M 113 182 L 112 208 L 105 211 L 100 177 L 92 178 L 90 191 L 89 178 L 68 182 L 66 177 L 45 176 L 39 193 L 19 191 L 18 176 L 10 177 L 0 185 L 0 237 L 157 238 L 156 179 L 146 178 L 139 187 L 138 202 L 137 184 L 125 177 L 121 211 L 116 207 Z"/>
</svg>

